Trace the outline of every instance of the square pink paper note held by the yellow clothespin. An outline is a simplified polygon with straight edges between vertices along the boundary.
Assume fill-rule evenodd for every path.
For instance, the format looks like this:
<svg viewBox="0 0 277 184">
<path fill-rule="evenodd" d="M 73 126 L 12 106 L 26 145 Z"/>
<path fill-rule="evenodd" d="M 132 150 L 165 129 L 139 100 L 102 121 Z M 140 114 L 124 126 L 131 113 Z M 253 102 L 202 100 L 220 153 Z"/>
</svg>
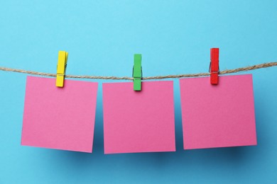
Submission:
<svg viewBox="0 0 277 184">
<path fill-rule="evenodd" d="M 97 86 L 27 76 L 21 145 L 92 153 Z"/>
</svg>

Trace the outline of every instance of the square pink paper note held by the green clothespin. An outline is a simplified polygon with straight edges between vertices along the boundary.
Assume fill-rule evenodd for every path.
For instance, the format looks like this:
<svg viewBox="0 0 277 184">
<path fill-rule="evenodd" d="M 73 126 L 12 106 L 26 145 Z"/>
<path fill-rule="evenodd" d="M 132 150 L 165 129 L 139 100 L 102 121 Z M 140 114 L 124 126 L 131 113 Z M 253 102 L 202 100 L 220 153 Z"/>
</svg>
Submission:
<svg viewBox="0 0 277 184">
<path fill-rule="evenodd" d="M 103 84 L 104 153 L 175 151 L 173 81 Z"/>
</svg>

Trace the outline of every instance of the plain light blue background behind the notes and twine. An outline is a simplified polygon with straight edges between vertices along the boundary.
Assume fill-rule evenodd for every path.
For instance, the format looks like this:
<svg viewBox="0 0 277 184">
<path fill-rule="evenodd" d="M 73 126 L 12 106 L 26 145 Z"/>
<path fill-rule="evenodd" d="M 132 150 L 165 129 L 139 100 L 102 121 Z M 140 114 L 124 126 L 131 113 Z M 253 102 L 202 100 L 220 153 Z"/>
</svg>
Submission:
<svg viewBox="0 0 277 184">
<path fill-rule="evenodd" d="M 0 66 L 67 74 L 143 76 L 207 72 L 277 61 L 277 1 L 4 1 Z M 93 153 L 21 146 L 26 74 L 0 71 L 0 183 L 277 183 L 277 67 L 253 74 L 258 146 L 183 150 L 175 85 L 176 152 L 104 155 L 102 82 Z M 95 80 L 92 80 L 95 81 Z M 157 91 L 158 93 L 158 91 Z M 230 112 L 232 113 L 232 112 Z"/>
</svg>

